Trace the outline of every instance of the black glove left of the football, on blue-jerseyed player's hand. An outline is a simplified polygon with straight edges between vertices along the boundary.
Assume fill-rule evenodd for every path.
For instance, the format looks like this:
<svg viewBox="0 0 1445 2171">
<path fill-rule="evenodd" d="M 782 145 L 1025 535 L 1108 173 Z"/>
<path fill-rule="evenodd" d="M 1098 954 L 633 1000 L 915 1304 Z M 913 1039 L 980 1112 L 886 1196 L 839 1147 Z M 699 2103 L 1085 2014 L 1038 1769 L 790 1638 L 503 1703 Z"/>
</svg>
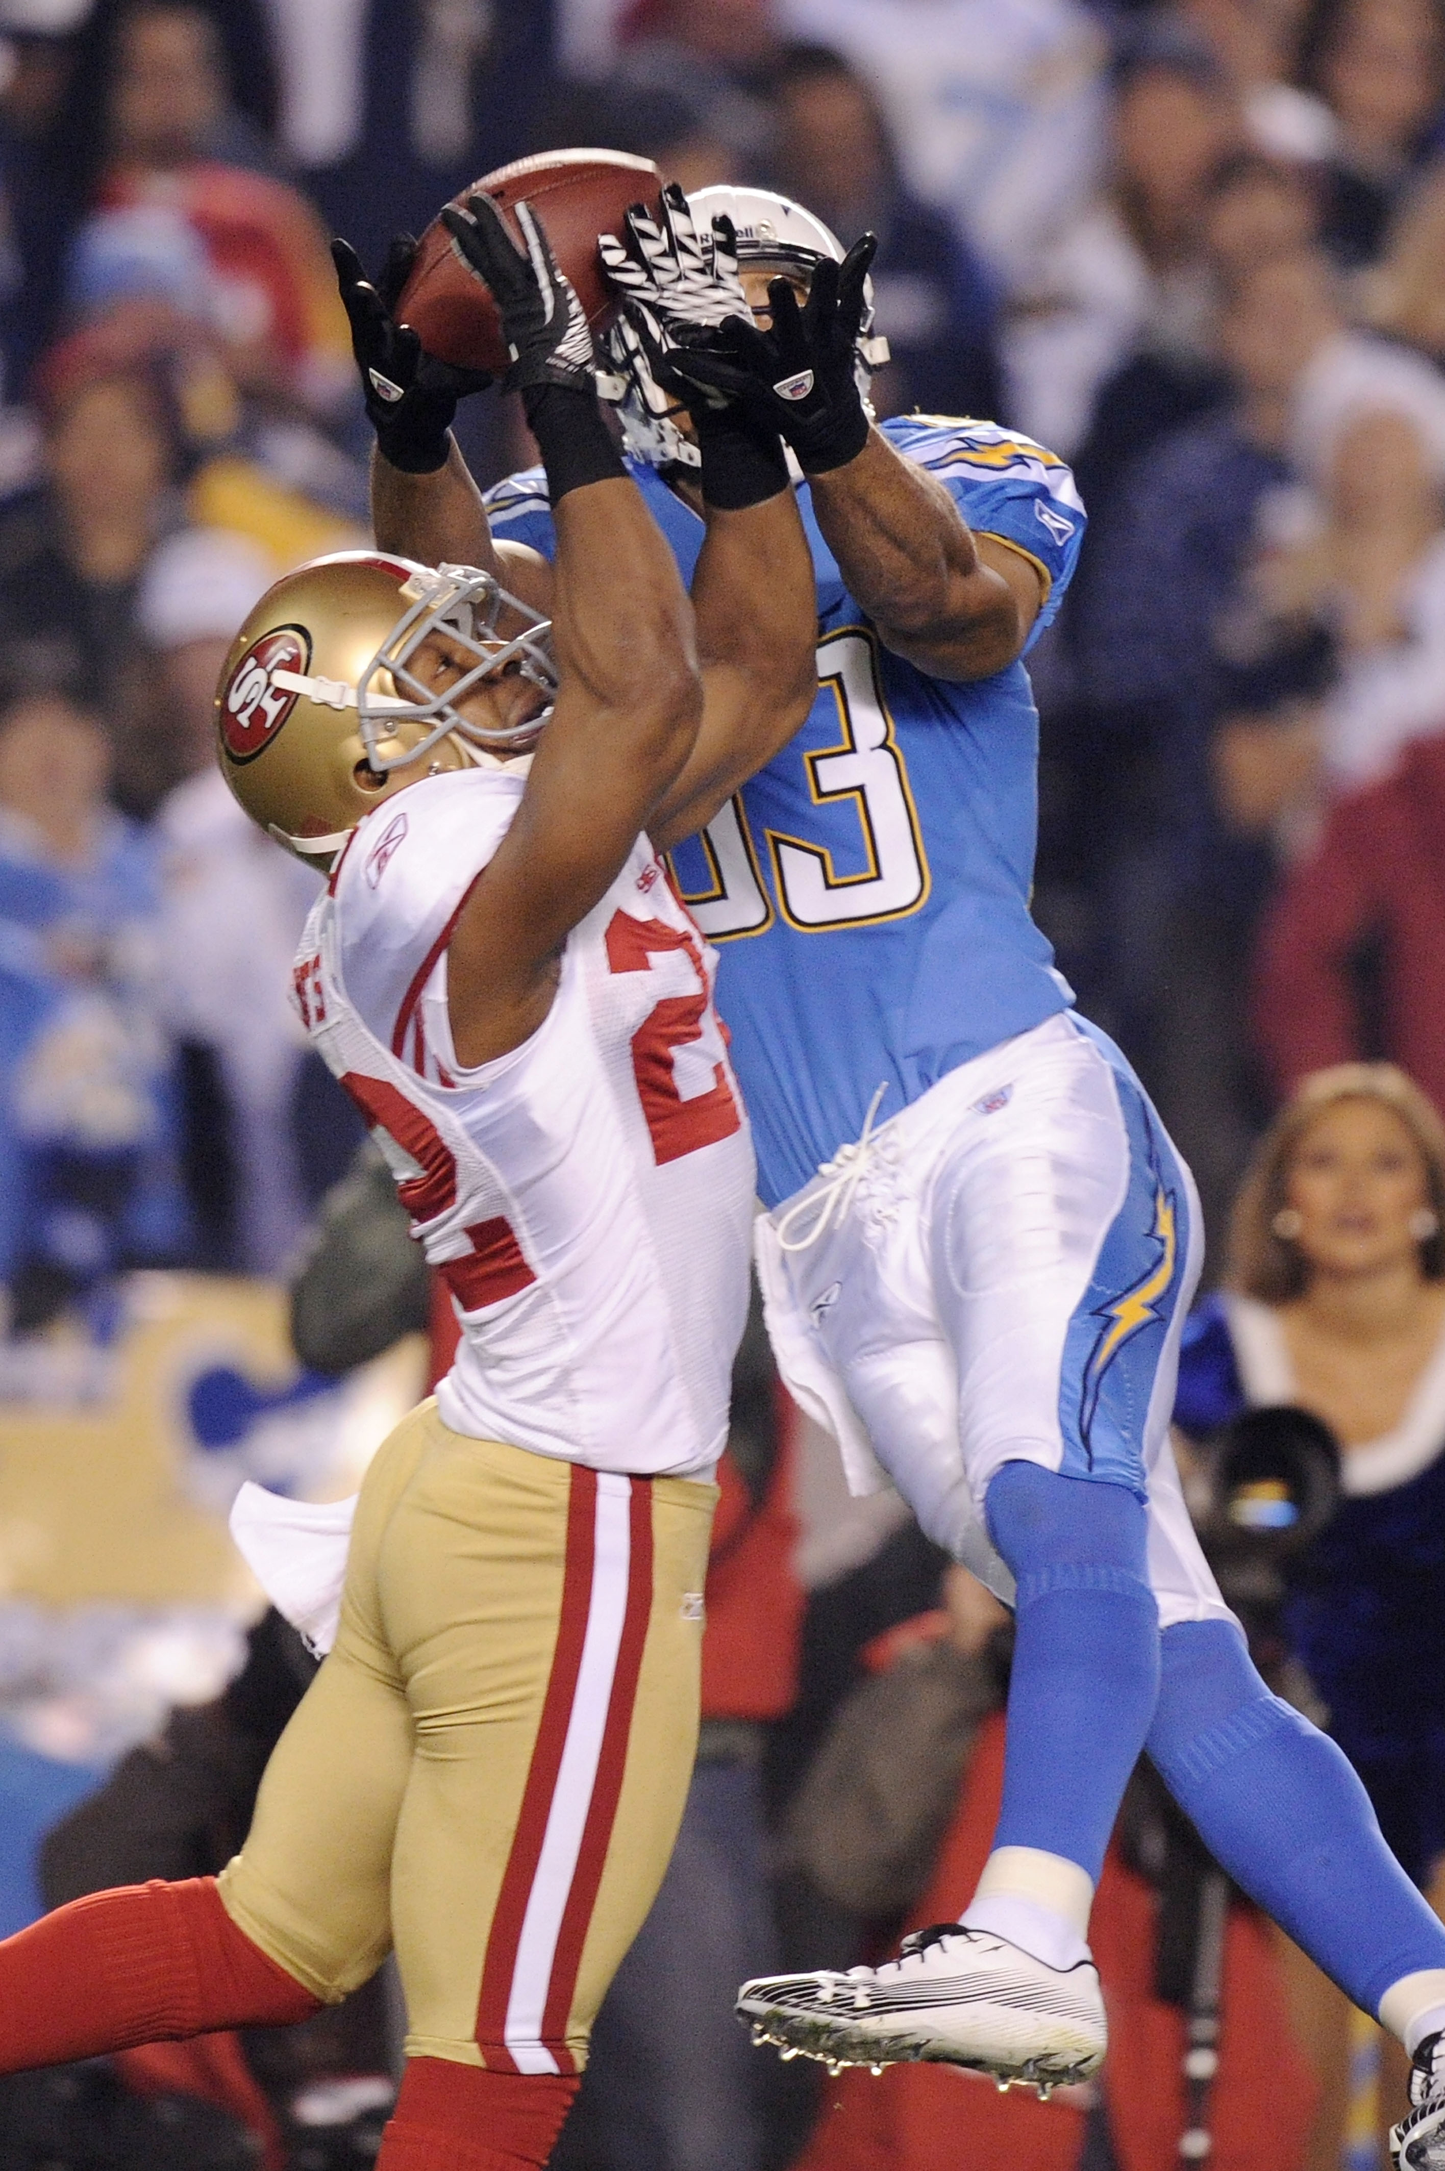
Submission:
<svg viewBox="0 0 1445 2171">
<path fill-rule="evenodd" d="M 456 402 L 491 384 L 491 373 L 439 363 L 409 323 L 395 323 L 391 313 L 415 254 L 413 237 L 395 234 L 382 276 L 372 284 L 350 241 L 330 245 L 341 306 L 352 326 L 352 354 L 361 371 L 367 419 L 376 430 L 382 460 L 409 475 L 430 475 L 445 467 Z"/>
</svg>

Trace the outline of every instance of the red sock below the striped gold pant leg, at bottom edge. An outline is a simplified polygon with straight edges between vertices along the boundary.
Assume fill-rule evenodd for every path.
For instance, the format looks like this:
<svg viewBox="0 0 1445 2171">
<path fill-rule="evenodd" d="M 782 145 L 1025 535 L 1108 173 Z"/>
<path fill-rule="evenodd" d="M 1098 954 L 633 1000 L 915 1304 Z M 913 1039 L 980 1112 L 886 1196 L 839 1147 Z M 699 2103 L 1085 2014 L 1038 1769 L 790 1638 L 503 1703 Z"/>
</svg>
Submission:
<svg viewBox="0 0 1445 2171">
<path fill-rule="evenodd" d="M 578 2086 L 574 2073 L 409 2058 L 376 2171 L 537 2171 Z"/>
</svg>

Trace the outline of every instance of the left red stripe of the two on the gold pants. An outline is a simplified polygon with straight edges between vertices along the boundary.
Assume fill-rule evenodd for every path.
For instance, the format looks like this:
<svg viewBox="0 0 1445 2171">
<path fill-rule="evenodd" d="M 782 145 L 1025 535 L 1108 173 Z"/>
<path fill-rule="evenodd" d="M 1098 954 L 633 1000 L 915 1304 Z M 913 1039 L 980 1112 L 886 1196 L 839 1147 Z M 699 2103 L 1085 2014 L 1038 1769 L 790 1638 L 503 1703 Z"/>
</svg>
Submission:
<svg viewBox="0 0 1445 2171">
<path fill-rule="evenodd" d="M 563 1607 L 556 1624 L 556 1648 L 552 1652 L 552 1674 L 541 1706 L 541 1724 L 532 1745 L 532 1763 L 522 1795 L 522 1813 L 513 1834 L 502 1891 L 491 1917 L 487 1958 L 482 1963 L 482 1989 L 476 2002 L 476 2041 L 487 2062 L 500 2073 L 515 2073 L 517 2062 L 506 2049 L 506 2008 L 511 2004 L 513 1973 L 517 1969 L 517 1947 L 526 1906 L 548 1837 L 556 1774 L 567 1745 L 567 1726 L 576 1696 L 578 1672 L 582 1667 L 582 1643 L 587 1639 L 587 1615 L 591 1611 L 593 1554 L 598 1541 L 598 1476 L 580 1463 L 571 1465 L 571 1489 L 567 1496 L 567 1557 L 563 1565 Z"/>
</svg>

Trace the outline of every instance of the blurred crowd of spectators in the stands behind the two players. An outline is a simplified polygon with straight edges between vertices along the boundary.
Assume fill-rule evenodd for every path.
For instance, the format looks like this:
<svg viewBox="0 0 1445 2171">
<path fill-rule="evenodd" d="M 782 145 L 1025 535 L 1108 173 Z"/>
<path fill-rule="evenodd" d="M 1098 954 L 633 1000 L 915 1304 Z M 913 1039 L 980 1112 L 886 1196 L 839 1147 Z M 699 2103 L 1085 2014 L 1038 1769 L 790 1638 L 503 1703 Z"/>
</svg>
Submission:
<svg viewBox="0 0 1445 2171">
<path fill-rule="evenodd" d="M 0 0 L 0 39 L 17 1324 L 117 1259 L 274 1272 L 335 1175 L 278 992 L 306 881 L 209 769 L 215 660 L 363 534 L 328 232 L 378 265 L 582 139 L 876 228 L 878 408 L 1076 465 L 1039 916 L 1210 1224 L 1321 1062 L 1445 1101 L 1430 0 Z M 463 430 L 482 480 L 526 458 L 504 402 Z"/>
</svg>

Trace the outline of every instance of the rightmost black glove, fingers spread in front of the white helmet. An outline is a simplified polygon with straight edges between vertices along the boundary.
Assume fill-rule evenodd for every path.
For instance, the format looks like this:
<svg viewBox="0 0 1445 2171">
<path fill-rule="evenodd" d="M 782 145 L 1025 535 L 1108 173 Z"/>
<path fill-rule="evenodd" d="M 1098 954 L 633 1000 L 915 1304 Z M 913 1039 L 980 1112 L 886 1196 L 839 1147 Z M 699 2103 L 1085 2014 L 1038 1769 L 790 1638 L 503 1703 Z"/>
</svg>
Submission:
<svg viewBox="0 0 1445 2171">
<path fill-rule="evenodd" d="M 789 280 L 771 280 L 767 332 L 743 317 L 728 317 L 717 330 L 678 330 L 667 356 L 671 373 L 739 399 L 780 430 L 806 475 L 854 460 L 869 430 L 856 347 L 876 250 L 878 237 L 863 234 L 841 265 L 824 256 L 802 308 Z"/>
</svg>

